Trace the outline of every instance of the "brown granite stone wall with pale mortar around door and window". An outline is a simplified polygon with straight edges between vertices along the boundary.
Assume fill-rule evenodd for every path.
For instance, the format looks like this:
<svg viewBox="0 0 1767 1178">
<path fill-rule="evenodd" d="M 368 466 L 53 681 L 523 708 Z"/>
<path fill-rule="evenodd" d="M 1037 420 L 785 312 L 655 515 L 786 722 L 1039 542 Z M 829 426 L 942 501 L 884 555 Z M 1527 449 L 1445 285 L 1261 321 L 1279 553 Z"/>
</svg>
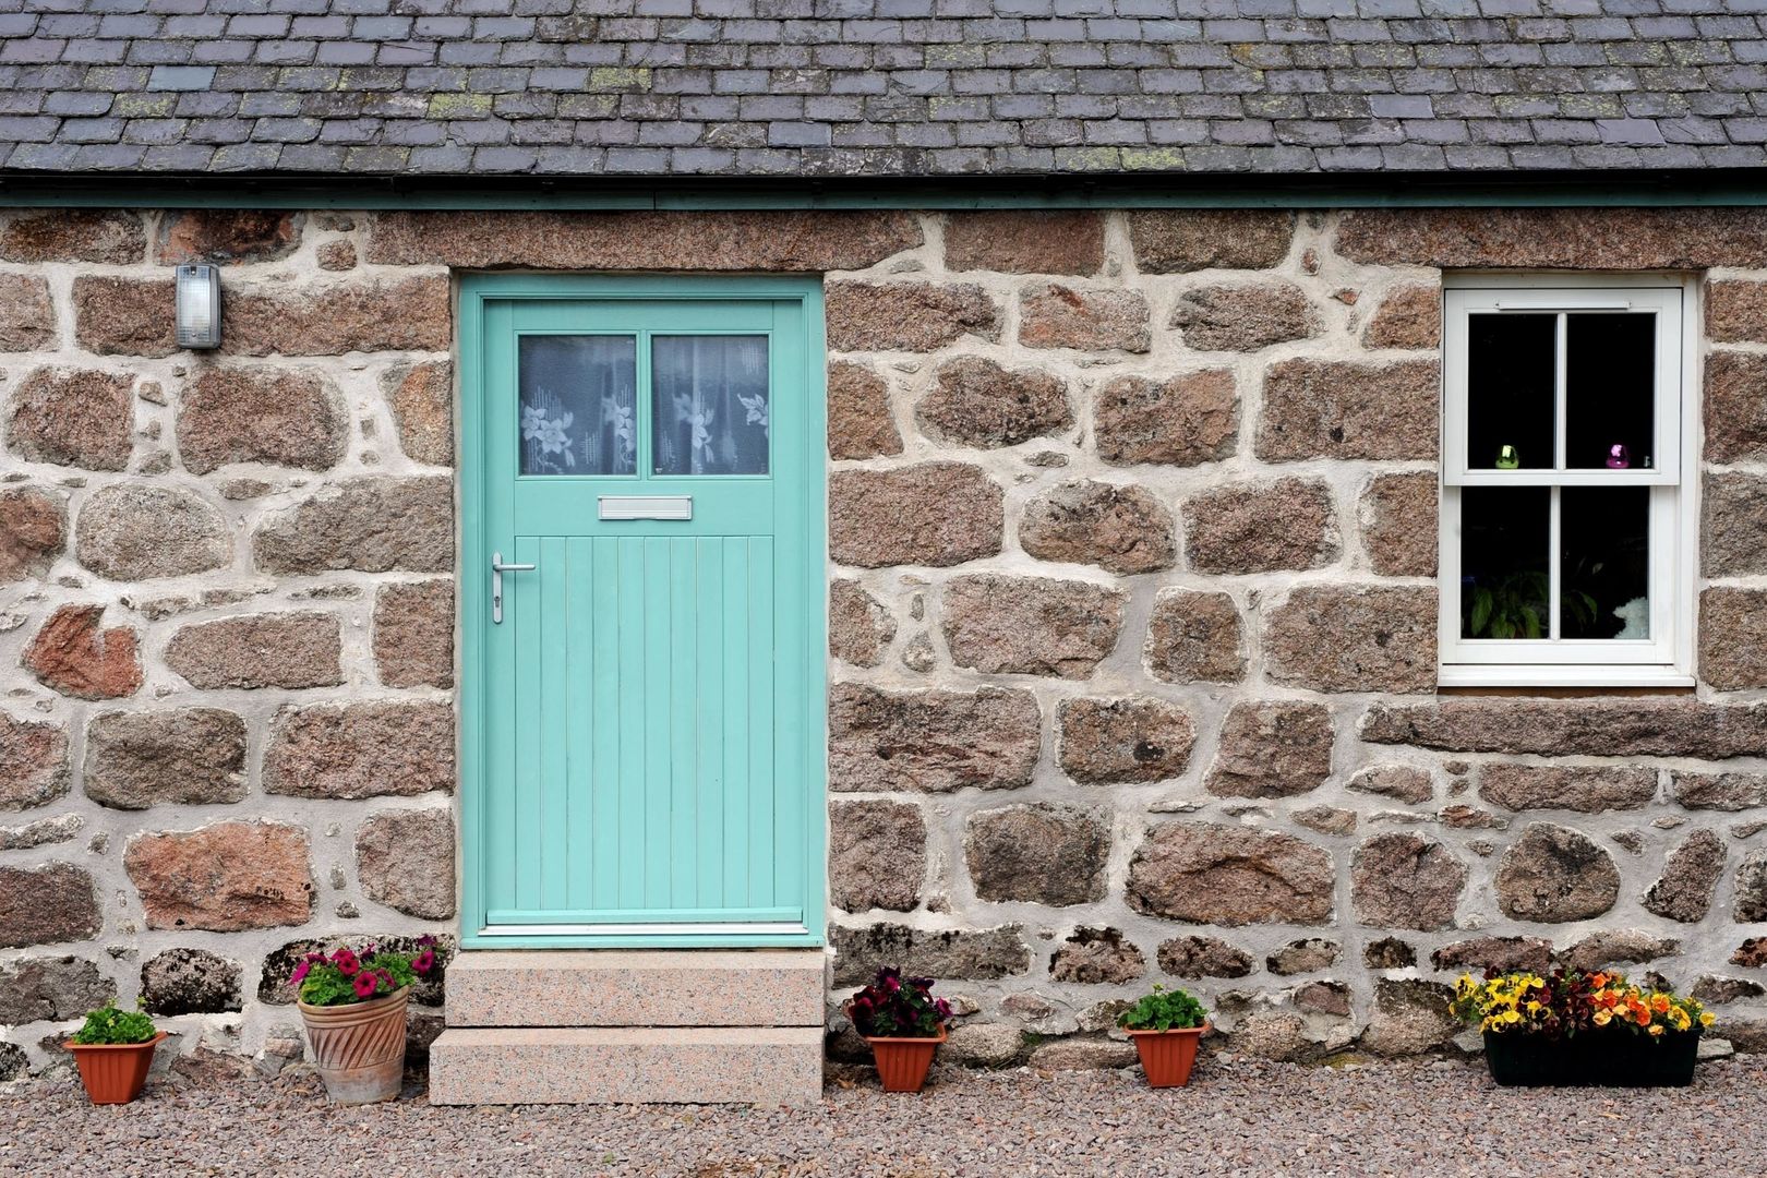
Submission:
<svg viewBox="0 0 1767 1178">
<path fill-rule="evenodd" d="M 1557 954 L 1767 1044 L 1762 214 L 101 210 L 0 221 L 0 1074 L 110 993 L 274 1063 L 309 941 L 454 931 L 449 274 L 504 265 L 829 276 L 839 989 L 1058 1065 L 1179 982 L 1306 1058 Z M 1440 267 L 1710 270 L 1696 694 L 1433 696 Z"/>
</svg>

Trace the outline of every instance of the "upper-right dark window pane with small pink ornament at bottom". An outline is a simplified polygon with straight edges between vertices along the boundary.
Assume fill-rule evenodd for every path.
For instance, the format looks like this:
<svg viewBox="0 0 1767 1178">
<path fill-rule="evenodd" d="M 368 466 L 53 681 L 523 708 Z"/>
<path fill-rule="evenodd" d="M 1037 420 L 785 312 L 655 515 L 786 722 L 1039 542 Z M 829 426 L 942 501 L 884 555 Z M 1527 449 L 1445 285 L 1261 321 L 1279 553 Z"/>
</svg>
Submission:
<svg viewBox="0 0 1767 1178">
<path fill-rule="evenodd" d="M 1580 313 L 1566 323 L 1566 466 L 1656 463 L 1656 316 Z"/>
</svg>

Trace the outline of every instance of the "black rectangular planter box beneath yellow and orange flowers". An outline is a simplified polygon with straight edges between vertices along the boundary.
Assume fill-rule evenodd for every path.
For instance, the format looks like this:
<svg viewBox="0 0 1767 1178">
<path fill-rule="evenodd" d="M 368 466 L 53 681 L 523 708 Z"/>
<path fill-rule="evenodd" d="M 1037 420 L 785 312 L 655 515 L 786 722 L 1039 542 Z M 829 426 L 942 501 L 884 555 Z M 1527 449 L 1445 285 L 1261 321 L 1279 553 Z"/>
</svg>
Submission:
<svg viewBox="0 0 1767 1178">
<path fill-rule="evenodd" d="M 1700 1031 L 1661 1038 L 1594 1030 L 1567 1038 L 1484 1033 L 1484 1061 L 1505 1088 L 1686 1088 L 1700 1056 Z"/>
</svg>

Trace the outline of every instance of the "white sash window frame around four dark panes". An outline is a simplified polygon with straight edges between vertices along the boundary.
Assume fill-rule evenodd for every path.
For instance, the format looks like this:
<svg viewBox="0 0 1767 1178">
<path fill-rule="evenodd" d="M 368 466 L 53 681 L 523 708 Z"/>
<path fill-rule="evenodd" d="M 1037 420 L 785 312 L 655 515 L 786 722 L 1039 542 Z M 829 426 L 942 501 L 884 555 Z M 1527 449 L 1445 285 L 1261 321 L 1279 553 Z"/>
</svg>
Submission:
<svg viewBox="0 0 1767 1178">
<path fill-rule="evenodd" d="M 1679 274 L 1454 274 L 1442 298 L 1442 495 L 1437 682 L 1442 687 L 1691 687 L 1698 470 L 1698 286 Z M 1656 314 L 1656 431 L 1649 470 L 1562 470 L 1566 346 L 1555 374 L 1558 470 L 1467 464 L 1468 316 L 1543 311 L 1650 311 Z M 1463 487 L 1650 487 L 1649 639 L 1468 639 L 1460 636 L 1460 510 Z M 1551 496 L 1553 583 L 1558 613 L 1558 495 Z M 1557 629 L 1557 625 L 1553 627 Z"/>
</svg>

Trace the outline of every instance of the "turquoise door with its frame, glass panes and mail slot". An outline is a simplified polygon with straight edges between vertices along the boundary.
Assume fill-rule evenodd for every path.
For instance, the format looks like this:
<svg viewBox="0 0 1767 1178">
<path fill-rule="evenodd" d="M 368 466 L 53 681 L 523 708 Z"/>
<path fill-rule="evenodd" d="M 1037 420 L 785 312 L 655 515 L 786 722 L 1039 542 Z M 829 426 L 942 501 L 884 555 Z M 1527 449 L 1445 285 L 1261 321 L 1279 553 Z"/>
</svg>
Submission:
<svg viewBox="0 0 1767 1178">
<path fill-rule="evenodd" d="M 820 943 L 820 288 L 484 276 L 461 320 L 466 943 Z"/>
</svg>

